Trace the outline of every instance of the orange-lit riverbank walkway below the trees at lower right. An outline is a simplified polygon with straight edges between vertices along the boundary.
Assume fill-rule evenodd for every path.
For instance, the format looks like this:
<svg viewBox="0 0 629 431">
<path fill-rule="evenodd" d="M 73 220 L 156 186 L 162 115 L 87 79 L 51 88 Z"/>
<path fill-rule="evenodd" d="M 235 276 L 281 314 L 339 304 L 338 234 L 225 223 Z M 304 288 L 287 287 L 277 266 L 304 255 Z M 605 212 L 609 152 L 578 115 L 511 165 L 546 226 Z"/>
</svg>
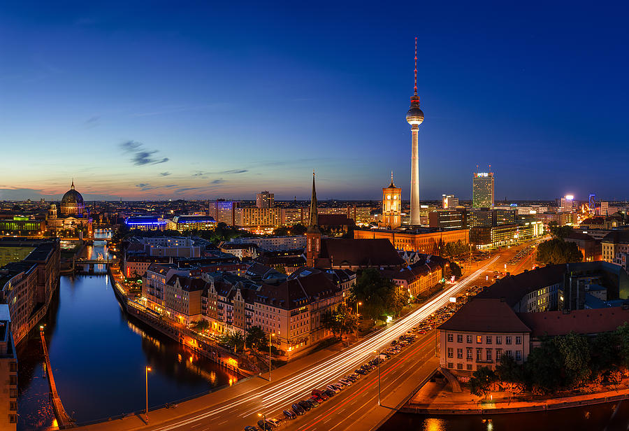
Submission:
<svg viewBox="0 0 629 431">
<path fill-rule="evenodd" d="M 535 400 L 519 400 L 510 393 L 491 393 L 489 400 L 482 402 L 480 397 L 468 390 L 453 393 L 444 390 L 439 383 L 426 383 L 400 411 L 414 414 L 507 414 L 525 411 L 547 411 L 570 407 L 602 404 L 629 399 L 629 388 L 623 385 L 619 390 L 605 390 L 597 393 L 566 395 Z"/>
</svg>

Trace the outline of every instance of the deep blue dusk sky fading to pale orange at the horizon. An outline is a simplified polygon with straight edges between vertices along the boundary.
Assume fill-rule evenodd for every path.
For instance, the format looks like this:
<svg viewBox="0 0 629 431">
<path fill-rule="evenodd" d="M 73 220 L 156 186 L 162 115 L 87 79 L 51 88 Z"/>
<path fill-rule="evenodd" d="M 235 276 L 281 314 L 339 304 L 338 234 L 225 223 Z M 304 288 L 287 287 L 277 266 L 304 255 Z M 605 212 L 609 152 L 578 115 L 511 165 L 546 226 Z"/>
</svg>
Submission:
<svg viewBox="0 0 629 431">
<path fill-rule="evenodd" d="M 12 2 L 0 200 L 629 199 L 626 2 Z M 437 4 L 440 3 L 440 4 Z"/>
</svg>

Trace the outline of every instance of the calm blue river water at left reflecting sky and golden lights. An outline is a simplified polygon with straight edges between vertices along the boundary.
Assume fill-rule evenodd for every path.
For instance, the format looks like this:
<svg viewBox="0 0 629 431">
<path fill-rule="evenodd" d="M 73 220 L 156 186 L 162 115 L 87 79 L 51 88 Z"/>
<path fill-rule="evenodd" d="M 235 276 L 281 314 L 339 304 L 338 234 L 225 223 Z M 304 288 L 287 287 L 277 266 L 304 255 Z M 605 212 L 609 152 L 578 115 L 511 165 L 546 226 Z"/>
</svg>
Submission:
<svg viewBox="0 0 629 431">
<path fill-rule="evenodd" d="M 105 255 L 103 243 L 89 253 Z M 78 423 L 158 406 L 228 385 L 238 376 L 146 325 L 128 320 L 108 276 L 62 276 L 44 321 L 55 382 Z M 17 349 L 18 430 L 52 425 L 38 329 Z"/>
</svg>

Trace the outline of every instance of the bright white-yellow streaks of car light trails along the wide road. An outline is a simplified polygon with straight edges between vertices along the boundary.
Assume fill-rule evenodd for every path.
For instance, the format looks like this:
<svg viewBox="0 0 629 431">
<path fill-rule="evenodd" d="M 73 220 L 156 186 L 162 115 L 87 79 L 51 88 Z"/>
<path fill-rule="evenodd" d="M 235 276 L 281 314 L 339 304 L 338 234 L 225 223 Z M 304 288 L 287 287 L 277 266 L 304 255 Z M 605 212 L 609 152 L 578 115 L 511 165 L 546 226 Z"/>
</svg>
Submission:
<svg viewBox="0 0 629 431">
<path fill-rule="evenodd" d="M 154 431 L 171 431 L 186 427 L 196 421 L 210 418 L 211 416 L 221 414 L 230 409 L 237 409 L 243 406 L 243 404 L 255 402 L 256 400 L 259 401 L 259 404 L 256 405 L 255 408 L 250 407 L 246 411 L 234 411 L 233 414 L 238 414 L 241 418 L 254 416 L 254 422 L 258 418 L 258 414 L 262 413 L 261 410 L 263 410 L 267 417 L 273 417 L 272 414 L 275 413 L 275 411 L 281 411 L 282 406 L 286 408 L 286 406 L 301 400 L 305 395 L 310 395 L 312 389 L 323 388 L 329 383 L 335 383 L 341 376 L 354 372 L 354 369 L 358 365 L 363 364 L 368 358 L 373 356 L 373 351 L 389 346 L 391 341 L 397 339 L 412 327 L 419 325 L 421 320 L 428 318 L 432 313 L 447 304 L 450 297 L 456 295 L 460 290 L 463 290 L 470 285 L 470 283 L 475 281 L 486 269 L 491 267 L 499 257 L 500 255 L 496 255 L 483 267 L 477 269 L 470 274 L 470 276 L 465 277 L 460 283 L 456 283 L 450 288 L 447 288 L 433 299 L 428 300 L 426 304 L 416 311 L 400 318 L 391 326 L 377 331 L 368 339 L 360 341 L 355 346 L 347 349 L 347 351 L 342 351 L 338 355 L 334 355 L 333 358 L 321 362 L 319 365 L 303 369 L 301 372 L 297 372 L 288 379 L 284 379 L 278 383 L 270 383 L 260 389 L 250 390 L 229 404 L 222 405 L 216 409 L 206 411 L 205 413 L 198 414 L 177 423 L 153 428 Z"/>
</svg>

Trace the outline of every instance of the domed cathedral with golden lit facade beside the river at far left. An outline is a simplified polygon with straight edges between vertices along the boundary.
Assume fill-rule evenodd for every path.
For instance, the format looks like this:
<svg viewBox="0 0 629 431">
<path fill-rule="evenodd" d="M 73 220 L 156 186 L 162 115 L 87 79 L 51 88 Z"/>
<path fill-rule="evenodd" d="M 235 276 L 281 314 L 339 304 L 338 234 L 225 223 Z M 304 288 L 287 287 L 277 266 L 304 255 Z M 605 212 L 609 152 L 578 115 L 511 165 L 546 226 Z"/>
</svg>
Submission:
<svg viewBox="0 0 629 431">
<path fill-rule="evenodd" d="M 83 197 L 75 190 L 74 181 L 70 190 L 62 198 L 59 209 L 57 204 L 51 204 L 46 218 L 48 230 L 59 232 L 63 230 L 90 232 L 92 230 L 92 218 L 85 212 Z M 80 236 L 80 235 L 79 235 Z"/>
</svg>

